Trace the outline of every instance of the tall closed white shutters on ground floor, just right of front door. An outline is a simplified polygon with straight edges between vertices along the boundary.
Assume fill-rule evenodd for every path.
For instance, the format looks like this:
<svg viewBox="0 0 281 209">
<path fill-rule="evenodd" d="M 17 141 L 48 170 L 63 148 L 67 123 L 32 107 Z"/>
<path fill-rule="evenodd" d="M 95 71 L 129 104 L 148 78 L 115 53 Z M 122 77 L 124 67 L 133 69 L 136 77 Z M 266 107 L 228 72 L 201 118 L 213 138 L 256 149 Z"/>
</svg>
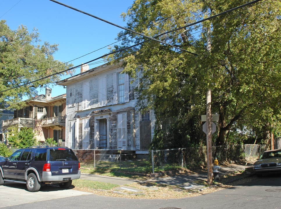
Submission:
<svg viewBox="0 0 281 209">
<path fill-rule="evenodd" d="M 117 115 L 118 149 L 126 149 L 126 113 Z"/>
</svg>

